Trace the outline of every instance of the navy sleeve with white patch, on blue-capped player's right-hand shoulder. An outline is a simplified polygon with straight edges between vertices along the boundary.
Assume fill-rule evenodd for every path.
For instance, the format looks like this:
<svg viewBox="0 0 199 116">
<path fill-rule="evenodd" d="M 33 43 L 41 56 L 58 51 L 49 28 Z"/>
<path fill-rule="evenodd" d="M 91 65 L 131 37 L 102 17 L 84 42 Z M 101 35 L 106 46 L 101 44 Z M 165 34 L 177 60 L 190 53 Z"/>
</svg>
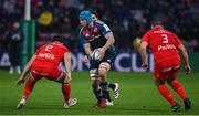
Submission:
<svg viewBox="0 0 199 116">
<path fill-rule="evenodd" d="M 105 24 L 104 22 L 97 20 L 96 21 L 97 27 L 100 28 L 101 32 L 103 35 L 106 35 L 107 33 L 112 32 L 112 30 L 109 29 L 109 27 L 107 24 Z"/>
</svg>

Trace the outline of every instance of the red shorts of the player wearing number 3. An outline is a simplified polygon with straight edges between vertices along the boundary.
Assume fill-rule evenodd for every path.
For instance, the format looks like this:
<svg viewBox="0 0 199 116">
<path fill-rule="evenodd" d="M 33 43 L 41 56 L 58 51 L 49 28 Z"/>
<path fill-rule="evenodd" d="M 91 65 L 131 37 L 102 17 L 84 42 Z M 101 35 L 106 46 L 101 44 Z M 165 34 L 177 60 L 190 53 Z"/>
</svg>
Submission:
<svg viewBox="0 0 199 116">
<path fill-rule="evenodd" d="M 180 60 L 169 60 L 156 64 L 154 70 L 154 77 L 156 80 L 167 80 L 168 77 L 177 77 L 180 67 Z"/>
</svg>

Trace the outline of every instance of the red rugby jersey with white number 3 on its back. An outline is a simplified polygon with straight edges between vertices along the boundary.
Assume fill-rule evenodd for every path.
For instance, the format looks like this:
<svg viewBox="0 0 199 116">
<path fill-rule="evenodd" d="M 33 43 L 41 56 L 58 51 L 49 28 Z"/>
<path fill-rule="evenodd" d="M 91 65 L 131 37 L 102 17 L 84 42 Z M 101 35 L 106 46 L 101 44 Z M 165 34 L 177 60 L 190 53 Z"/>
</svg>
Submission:
<svg viewBox="0 0 199 116">
<path fill-rule="evenodd" d="M 177 46 L 181 44 L 180 39 L 163 27 L 154 27 L 143 36 L 142 42 L 148 43 L 156 64 L 172 59 L 180 60 L 177 50 Z"/>
</svg>

